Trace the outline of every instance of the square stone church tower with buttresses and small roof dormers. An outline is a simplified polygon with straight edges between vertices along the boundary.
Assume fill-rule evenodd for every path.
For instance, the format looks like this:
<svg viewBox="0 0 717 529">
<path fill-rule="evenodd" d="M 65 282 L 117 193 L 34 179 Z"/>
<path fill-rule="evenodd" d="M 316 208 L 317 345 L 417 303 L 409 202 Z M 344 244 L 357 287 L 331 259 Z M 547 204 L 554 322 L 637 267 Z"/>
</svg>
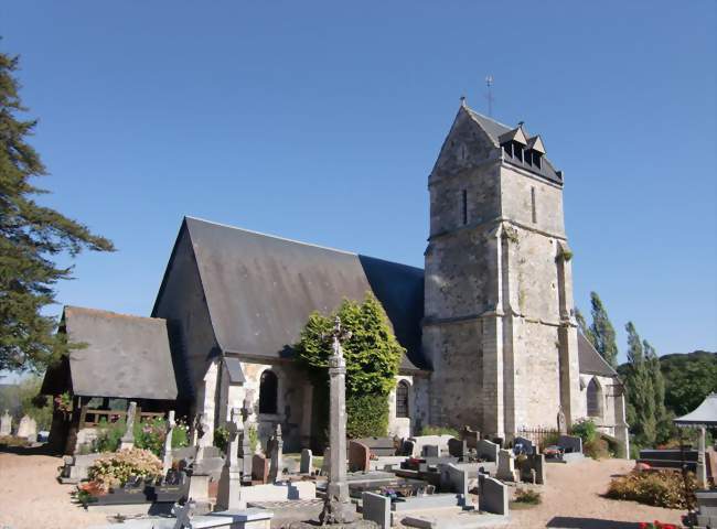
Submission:
<svg viewBox="0 0 717 529">
<path fill-rule="evenodd" d="M 579 399 L 563 173 L 539 136 L 469 109 L 428 179 L 424 349 L 430 421 L 511 438 Z"/>
</svg>

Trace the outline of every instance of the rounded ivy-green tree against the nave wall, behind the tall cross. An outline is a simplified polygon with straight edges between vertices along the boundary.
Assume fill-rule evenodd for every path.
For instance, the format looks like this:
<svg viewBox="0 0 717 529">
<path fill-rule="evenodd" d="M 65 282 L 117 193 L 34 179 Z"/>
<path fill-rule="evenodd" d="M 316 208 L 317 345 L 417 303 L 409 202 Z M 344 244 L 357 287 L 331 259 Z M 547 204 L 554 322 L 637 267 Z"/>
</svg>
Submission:
<svg viewBox="0 0 717 529">
<path fill-rule="evenodd" d="M 388 393 L 396 386 L 405 349 L 394 336 L 381 302 L 370 292 L 363 303 L 344 300 L 333 314 L 314 312 L 301 332 L 295 352 L 314 385 L 314 408 L 320 417 L 328 417 L 328 366 L 336 315 L 342 327 L 351 332 L 342 343 L 346 360 L 346 434 L 385 435 Z"/>
</svg>

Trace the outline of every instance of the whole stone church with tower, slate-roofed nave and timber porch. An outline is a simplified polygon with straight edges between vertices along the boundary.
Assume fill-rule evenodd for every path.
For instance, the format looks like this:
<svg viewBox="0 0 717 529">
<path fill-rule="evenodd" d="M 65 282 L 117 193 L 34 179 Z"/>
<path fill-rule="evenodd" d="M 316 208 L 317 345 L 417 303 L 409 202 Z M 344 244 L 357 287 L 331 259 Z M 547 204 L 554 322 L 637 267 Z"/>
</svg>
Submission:
<svg viewBox="0 0 717 529">
<path fill-rule="evenodd" d="M 66 306 L 60 332 L 84 346 L 43 391 L 78 409 L 173 407 L 202 418 L 203 444 L 245 407 L 259 439 L 280 423 L 286 450 L 309 447 L 313 391 L 292 344 L 313 311 L 372 292 L 406 349 L 392 435 L 469 425 L 510 440 L 591 418 L 627 449 L 622 385 L 575 320 L 563 186 L 539 136 L 462 100 L 428 175 L 422 270 L 185 217 L 151 317 Z"/>
</svg>

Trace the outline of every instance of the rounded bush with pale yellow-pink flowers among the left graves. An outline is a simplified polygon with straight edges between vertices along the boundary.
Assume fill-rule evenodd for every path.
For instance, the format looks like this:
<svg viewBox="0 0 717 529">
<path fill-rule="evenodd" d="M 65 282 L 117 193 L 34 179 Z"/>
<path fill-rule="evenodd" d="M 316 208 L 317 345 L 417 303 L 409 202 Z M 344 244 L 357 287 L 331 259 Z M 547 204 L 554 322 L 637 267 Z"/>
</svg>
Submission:
<svg viewBox="0 0 717 529">
<path fill-rule="evenodd" d="M 104 492 L 121 487 L 132 476 L 151 481 L 161 475 L 162 462 L 149 450 L 142 449 L 106 454 L 96 460 L 87 471 L 87 476 L 95 487 Z"/>
</svg>

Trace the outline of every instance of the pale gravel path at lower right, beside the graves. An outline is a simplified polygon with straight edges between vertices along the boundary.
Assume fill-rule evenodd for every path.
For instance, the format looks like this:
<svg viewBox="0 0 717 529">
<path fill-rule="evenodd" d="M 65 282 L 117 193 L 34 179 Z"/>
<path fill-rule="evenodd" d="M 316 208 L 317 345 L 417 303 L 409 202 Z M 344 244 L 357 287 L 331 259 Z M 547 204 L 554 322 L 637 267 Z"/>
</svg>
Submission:
<svg viewBox="0 0 717 529">
<path fill-rule="evenodd" d="M 640 521 L 660 520 L 679 527 L 682 510 L 603 498 L 610 476 L 625 474 L 634 462 L 586 460 L 549 464 L 543 503 L 512 510 L 510 528 L 638 529 Z M 505 527 L 505 526 L 504 526 Z"/>
</svg>

